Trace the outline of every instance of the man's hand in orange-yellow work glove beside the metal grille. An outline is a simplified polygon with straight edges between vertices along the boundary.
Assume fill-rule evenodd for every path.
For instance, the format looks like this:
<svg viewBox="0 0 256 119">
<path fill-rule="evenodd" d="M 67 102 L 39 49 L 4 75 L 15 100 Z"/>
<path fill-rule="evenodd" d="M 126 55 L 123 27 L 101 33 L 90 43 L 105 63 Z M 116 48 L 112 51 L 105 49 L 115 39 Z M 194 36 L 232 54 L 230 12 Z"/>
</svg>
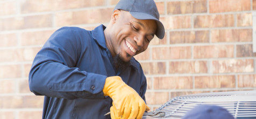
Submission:
<svg viewBox="0 0 256 119">
<path fill-rule="evenodd" d="M 142 118 L 144 111 L 149 110 L 141 96 L 126 85 L 120 76 L 108 77 L 103 93 L 113 100 L 113 106 L 110 107 L 111 118 Z"/>
</svg>

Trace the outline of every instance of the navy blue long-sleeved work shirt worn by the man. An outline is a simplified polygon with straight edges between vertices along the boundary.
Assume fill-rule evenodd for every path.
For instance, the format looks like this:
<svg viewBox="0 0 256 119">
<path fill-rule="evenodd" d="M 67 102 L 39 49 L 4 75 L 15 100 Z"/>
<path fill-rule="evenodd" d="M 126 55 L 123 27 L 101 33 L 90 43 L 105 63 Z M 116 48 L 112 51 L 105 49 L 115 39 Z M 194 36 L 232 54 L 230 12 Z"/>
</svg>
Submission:
<svg viewBox="0 0 256 119">
<path fill-rule="evenodd" d="M 119 75 L 145 101 L 147 81 L 134 58 L 116 70 L 100 25 L 92 31 L 62 27 L 52 34 L 34 58 L 29 87 L 45 95 L 43 118 L 110 118 L 104 116 L 112 99 L 102 89 L 108 76 Z"/>
</svg>

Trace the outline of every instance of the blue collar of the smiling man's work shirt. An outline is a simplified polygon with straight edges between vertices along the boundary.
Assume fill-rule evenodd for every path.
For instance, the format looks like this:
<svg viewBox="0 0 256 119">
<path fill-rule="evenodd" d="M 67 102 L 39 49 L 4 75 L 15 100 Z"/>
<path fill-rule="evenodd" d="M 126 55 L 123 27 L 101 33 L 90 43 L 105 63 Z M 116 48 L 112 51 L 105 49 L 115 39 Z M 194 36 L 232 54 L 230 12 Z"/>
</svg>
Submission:
<svg viewBox="0 0 256 119">
<path fill-rule="evenodd" d="M 92 37 L 98 45 L 100 45 L 102 48 L 107 49 L 105 35 L 104 35 L 105 29 L 106 29 L 106 26 L 104 26 L 103 24 L 99 25 L 94 30 L 92 30 Z M 136 62 L 137 61 L 134 58 L 132 58 L 130 59 L 129 64 L 135 69 L 138 69 L 139 66 L 137 65 Z"/>
</svg>

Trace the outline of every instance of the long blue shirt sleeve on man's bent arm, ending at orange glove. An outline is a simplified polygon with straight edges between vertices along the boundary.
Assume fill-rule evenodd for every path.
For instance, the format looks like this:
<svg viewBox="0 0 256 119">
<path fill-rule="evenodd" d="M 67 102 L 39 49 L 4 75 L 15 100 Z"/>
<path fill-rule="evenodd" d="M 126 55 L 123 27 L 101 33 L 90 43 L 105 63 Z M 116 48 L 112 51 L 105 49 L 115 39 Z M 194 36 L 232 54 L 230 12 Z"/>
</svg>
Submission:
<svg viewBox="0 0 256 119">
<path fill-rule="evenodd" d="M 75 67 L 80 54 L 78 30 L 63 27 L 54 32 L 34 58 L 29 73 L 31 92 L 64 99 L 103 99 L 107 76 Z"/>
</svg>

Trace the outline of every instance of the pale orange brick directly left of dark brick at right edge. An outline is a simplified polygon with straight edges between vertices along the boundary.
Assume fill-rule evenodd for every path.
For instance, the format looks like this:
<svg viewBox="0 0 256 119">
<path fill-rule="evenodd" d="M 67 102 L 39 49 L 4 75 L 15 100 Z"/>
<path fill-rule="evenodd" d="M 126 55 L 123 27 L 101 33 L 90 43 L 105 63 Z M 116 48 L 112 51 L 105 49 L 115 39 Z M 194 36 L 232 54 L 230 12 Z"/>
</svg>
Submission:
<svg viewBox="0 0 256 119">
<path fill-rule="evenodd" d="M 233 45 L 195 46 L 194 58 L 232 58 L 234 57 Z"/>
</svg>

